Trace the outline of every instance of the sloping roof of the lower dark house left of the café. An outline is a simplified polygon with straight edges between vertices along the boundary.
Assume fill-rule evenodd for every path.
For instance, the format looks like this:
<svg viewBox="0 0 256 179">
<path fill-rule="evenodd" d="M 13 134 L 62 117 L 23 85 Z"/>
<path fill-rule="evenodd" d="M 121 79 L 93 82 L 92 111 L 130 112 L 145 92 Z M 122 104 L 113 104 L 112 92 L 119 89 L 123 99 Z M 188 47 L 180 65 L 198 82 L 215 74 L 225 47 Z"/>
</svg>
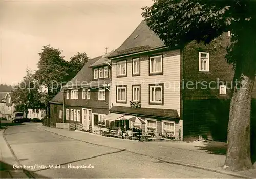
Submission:
<svg viewBox="0 0 256 179">
<path fill-rule="evenodd" d="M 90 83 L 93 79 L 93 72 L 90 65 L 98 61 L 103 55 L 89 60 L 83 68 L 76 74 L 76 76 L 70 80 L 63 88 L 79 87 L 81 84 Z M 77 83 L 76 83 L 77 82 Z"/>
</svg>

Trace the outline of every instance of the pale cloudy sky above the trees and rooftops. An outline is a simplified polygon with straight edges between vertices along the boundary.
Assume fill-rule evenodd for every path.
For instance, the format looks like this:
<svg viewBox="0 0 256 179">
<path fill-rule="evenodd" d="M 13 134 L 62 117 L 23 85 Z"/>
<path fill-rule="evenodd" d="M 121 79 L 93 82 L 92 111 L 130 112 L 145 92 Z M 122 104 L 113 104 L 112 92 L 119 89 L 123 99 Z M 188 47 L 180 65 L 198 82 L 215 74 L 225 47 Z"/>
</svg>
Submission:
<svg viewBox="0 0 256 179">
<path fill-rule="evenodd" d="M 117 49 L 143 20 L 152 0 L 0 0 L 0 84 L 16 84 L 26 68 L 37 69 L 42 46 L 94 58 Z"/>
</svg>

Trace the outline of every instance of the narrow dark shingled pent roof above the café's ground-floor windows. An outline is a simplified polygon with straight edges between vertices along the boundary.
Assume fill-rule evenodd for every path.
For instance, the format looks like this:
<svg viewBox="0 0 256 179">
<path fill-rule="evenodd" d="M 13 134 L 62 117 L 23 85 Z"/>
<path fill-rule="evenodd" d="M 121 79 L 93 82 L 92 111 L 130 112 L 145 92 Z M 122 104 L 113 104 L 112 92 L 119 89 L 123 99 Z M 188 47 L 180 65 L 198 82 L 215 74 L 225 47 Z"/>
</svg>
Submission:
<svg viewBox="0 0 256 179">
<path fill-rule="evenodd" d="M 133 108 L 133 107 L 123 107 L 123 106 L 113 106 L 110 109 L 113 113 L 124 113 L 130 115 L 142 115 L 142 116 L 152 116 L 160 118 L 175 118 L 180 119 L 177 110 L 173 109 L 153 109 L 153 108 Z"/>
</svg>

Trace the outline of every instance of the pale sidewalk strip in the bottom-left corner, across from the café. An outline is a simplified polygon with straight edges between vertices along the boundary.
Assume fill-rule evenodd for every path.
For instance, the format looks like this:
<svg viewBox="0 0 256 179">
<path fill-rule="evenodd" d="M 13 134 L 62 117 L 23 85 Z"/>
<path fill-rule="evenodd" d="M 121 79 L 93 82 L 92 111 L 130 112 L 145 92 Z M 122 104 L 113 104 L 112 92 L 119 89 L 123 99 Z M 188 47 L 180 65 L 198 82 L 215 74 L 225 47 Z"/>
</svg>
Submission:
<svg viewBox="0 0 256 179">
<path fill-rule="evenodd" d="M 4 130 L 0 128 L 0 178 L 29 178 L 23 170 L 13 168 L 19 164 L 4 139 Z"/>
</svg>

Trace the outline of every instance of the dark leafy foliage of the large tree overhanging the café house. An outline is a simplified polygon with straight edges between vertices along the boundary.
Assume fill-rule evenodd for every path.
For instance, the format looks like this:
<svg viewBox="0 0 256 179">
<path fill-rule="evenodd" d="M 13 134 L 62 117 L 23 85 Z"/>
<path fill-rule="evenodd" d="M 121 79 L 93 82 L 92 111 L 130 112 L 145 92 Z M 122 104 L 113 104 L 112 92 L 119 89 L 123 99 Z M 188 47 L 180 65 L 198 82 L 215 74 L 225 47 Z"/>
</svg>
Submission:
<svg viewBox="0 0 256 179">
<path fill-rule="evenodd" d="M 193 40 L 208 44 L 230 30 L 233 35 L 227 62 L 235 68 L 236 63 L 242 63 L 237 60 L 243 60 L 246 54 L 256 56 L 251 48 L 256 44 L 251 34 L 256 27 L 255 1 L 160 0 L 142 9 L 147 25 L 167 46 L 182 46 Z"/>
</svg>

